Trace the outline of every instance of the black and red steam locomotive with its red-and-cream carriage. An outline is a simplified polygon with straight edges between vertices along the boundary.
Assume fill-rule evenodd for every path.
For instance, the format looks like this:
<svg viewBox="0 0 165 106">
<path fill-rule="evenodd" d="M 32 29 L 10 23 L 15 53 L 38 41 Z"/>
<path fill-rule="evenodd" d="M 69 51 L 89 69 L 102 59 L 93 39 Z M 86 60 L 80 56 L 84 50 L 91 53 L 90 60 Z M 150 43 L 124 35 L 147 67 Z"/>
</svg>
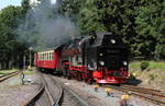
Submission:
<svg viewBox="0 0 165 106">
<path fill-rule="evenodd" d="M 128 46 L 113 33 L 75 38 L 35 52 L 35 67 L 40 70 L 47 69 L 89 83 L 125 83 L 128 66 Z"/>
</svg>

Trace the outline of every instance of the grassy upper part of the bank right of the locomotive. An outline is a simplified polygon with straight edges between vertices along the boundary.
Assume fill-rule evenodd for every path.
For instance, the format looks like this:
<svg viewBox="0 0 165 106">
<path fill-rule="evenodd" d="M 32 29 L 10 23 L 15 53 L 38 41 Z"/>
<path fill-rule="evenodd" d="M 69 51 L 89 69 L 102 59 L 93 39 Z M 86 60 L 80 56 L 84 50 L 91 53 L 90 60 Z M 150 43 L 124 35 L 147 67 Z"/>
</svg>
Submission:
<svg viewBox="0 0 165 106">
<path fill-rule="evenodd" d="M 165 62 L 147 61 L 150 63 L 146 70 L 141 71 L 141 61 L 131 62 L 130 73 L 135 73 L 138 79 L 163 82 L 165 80 Z"/>
</svg>

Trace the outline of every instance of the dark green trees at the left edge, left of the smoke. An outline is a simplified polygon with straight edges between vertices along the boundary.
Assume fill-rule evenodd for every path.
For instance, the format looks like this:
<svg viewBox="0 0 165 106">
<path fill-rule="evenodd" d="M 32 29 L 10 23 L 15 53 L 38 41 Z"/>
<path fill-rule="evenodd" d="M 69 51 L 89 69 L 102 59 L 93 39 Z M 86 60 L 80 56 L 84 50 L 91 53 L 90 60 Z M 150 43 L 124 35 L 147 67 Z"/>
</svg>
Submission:
<svg viewBox="0 0 165 106">
<path fill-rule="evenodd" d="M 19 66 L 21 61 L 21 54 L 23 52 L 23 44 L 18 42 L 16 28 L 22 19 L 21 7 L 8 7 L 1 10 L 0 14 L 0 62 L 3 69 L 12 67 L 13 64 Z M 21 48 L 21 49 L 20 49 Z M 19 51 L 19 52 L 18 52 Z"/>
</svg>

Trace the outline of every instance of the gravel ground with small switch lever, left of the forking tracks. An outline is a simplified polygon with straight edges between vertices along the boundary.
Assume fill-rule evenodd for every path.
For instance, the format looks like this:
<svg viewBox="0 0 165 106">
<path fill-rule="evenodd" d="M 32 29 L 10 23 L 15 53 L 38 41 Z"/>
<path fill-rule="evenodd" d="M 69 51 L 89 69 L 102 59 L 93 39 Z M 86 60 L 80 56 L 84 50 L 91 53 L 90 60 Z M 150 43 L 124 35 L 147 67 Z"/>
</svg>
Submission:
<svg viewBox="0 0 165 106">
<path fill-rule="evenodd" d="M 1 73 L 6 74 L 6 71 Z M 24 75 L 23 75 L 24 74 Z M 1 106 L 21 106 L 38 91 L 40 80 L 34 71 L 23 71 L 0 83 Z M 22 78 L 24 83 L 22 83 Z"/>
</svg>

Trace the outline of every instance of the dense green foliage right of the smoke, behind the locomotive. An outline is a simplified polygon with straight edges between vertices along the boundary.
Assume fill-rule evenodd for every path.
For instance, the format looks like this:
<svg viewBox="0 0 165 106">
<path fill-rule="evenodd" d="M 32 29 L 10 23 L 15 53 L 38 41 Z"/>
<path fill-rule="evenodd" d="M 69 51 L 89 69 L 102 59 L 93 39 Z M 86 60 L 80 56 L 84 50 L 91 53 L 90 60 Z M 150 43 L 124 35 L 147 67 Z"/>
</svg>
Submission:
<svg viewBox="0 0 165 106">
<path fill-rule="evenodd" d="M 132 56 L 165 59 L 163 0 L 64 0 L 61 8 L 77 23 L 80 35 L 114 32 L 130 45 Z"/>
</svg>

